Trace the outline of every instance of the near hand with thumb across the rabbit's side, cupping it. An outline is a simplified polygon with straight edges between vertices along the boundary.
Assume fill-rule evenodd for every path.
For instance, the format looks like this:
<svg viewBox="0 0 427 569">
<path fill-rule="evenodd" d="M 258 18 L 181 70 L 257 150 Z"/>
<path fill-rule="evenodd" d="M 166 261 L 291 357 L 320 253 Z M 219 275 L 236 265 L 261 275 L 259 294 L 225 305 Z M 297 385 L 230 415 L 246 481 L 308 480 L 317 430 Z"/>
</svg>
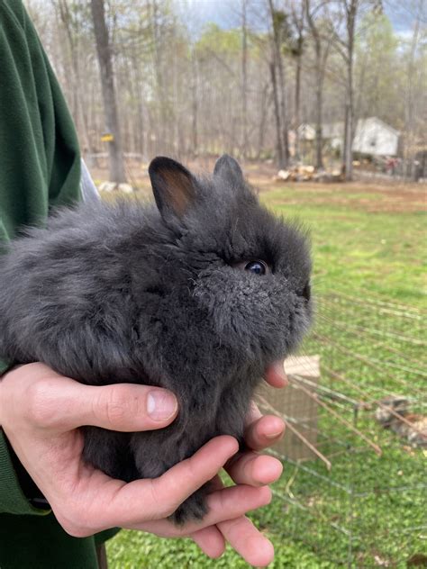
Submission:
<svg viewBox="0 0 427 569">
<path fill-rule="evenodd" d="M 69 534 L 85 537 L 121 526 L 157 535 L 184 535 L 166 518 L 236 453 L 234 438 L 217 437 L 159 478 L 132 483 L 114 480 L 86 465 L 81 458 L 84 441 L 78 427 L 95 425 L 132 432 L 160 429 L 175 419 L 177 403 L 171 393 L 168 417 L 149 415 L 149 394 L 155 393 L 166 402 L 168 392 L 159 388 L 79 384 L 42 364 L 20 366 L 2 378 L 0 425 Z M 209 513 L 204 520 L 186 528 L 185 533 L 210 555 L 213 532 L 223 539 L 217 524 L 239 519 L 269 500 L 268 488 L 238 484 L 220 489 L 209 496 Z M 209 545 L 204 543 L 206 534 Z M 233 546 L 233 537 L 229 541 Z"/>
</svg>

